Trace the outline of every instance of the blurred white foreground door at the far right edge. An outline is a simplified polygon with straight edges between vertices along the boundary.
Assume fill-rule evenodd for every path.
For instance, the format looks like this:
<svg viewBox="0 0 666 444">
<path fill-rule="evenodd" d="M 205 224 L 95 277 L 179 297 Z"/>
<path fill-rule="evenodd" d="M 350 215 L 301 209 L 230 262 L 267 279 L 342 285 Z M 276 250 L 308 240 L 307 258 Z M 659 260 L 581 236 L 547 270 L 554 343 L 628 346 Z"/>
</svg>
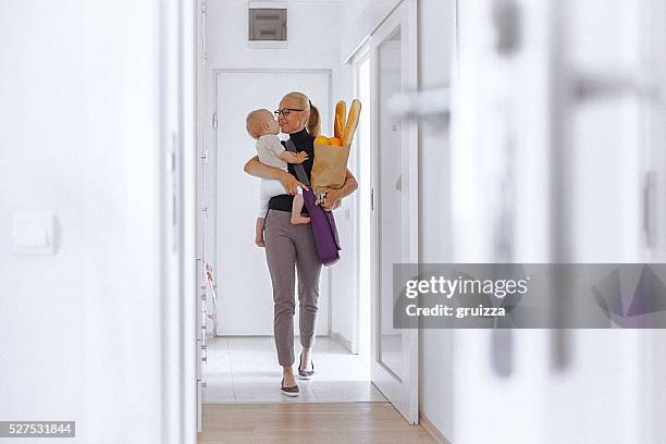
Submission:
<svg viewBox="0 0 666 444">
<path fill-rule="evenodd" d="M 644 186 L 654 168 L 652 150 L 654 96 L 645 88 L 655 66 L 650 42 L 663 41 L 651 24 L 663 0 L 568 1 L 555 11 L 562 50 L 553 60 L 569 78 L 559 85 L 583 85 L 578 97 L 563 95 L 554 108 L 560 136 L 551 149 L 559 199 L 554 259 L 563 262 L 643 262 L 646 255 Z M 562 70 L 562 72 L 567 72 Z M 663 78 L 662 78 L 663 82 Z M 585 90 L 588 91 L 587 94 Z M 594 91 L 594 92 L 592 92 Z M 559 113 L 559 115 L 557 115 Z M 663 122 L 663 109 L 659 116 Z M 558 124 L 557 124 L 558 122 Z M 663 123 L 662 123 L 663 126 Z M 663 140 L 658 143 L 663 149 Z M 664 331 L 571 330 L 551 332 L 552 371 L 547 409 L 553 442 L 659 442 L 649 418 L 650 398 L 658 395 L 650 371 L 662 368 L 650 347 L 663 348 Z M 658 374 L 658 373 L 657 373 Z M 663 379 L 663 375 L 658 379 Z M 564 408 L 576 398 L 576 408 Z M 657 410 L 658 411 L 658 410 Z M 596 418 L 603 421 L 594 422 Z M 558 429 L 556 429 L 558 427 Z"/>
</svg>

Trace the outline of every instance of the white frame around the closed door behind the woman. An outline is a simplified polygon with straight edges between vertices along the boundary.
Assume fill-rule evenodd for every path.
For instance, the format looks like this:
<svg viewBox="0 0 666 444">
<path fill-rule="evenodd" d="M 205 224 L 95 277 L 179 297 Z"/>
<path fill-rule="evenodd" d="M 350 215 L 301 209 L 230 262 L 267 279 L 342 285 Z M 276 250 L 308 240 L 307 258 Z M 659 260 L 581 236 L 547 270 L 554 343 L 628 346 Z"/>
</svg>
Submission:
<svg viewBox="0 0 666 444">
<path fill-rule="evenodd" d="M 209 168 L 210 168 L 210 176 L 211 176 L 211 181 L 209 183 L 205 183 L 203 187 L 206 188 L 206 195 L 208 196 L 209 200 L 206 202 L 206 208 L 208 209 L 208 214 L 210 215 L 208 218 L 209 221 L 209 230 L 206 231 L 208 239 L 203 239 L 203 243 L 207 245 L 212 246 L 211 251 L 209 251 L 208 254 L 208 262 L 211 264 L 215 275 L 218 275 L 218 147 L 219 147 L 219 140 L 218 140 L 218 130 L 214 125 L 217 125 L 217 116 L 220 115 L 220 103 L 219 103 L 219 76 L 221 74 L 230 74 L 230 73 L 247 73 L 247 74 L 252 74 L 252 73 L 258 73 L 258 74 L 323 74 L 328 76 L 328 82 L 329 82 L 329 94 L 328 94 L 328 103 L 325 103 L 325 107 L 328 107 L 329 110 L 333 109 L 332 106 L 332 100 L 333 100 L 333 73 L 332 70 L 326 70 L 326 69 L 272 69 L 272 67 L 267 67 L 267 69 L 261 69 L 261 67 L 219 67 L 219 69 L 213 69 L 211 70 L 211 74 L 212 74 L 212 110 L 210 113 L 211 120 L 210 120 L 210 124 L 211 124 L 211 150 L 210 150 L 210 157 L 208 159 L 209 162 Z M 214 123 L 213 123 L 214 122 Z M 330 125 L 332 125 L 332 122 L 329 122 Z M 210 188 L 207 188 L 210 185 Z M 320 278 L 320 288 L 322 289 L 322 292 L 326 295 L 328 297 L 328 328 L 326 328 L 326 334 L 331 335 L 331 325 L 333 324 L 332 322 L 332 313 L 333 313 L 333 305 L 332 305 L 332 300 L 333 298 L 331 297 L 332 294 L 332 281 L 331 281 L 331 271 L 329 268 L 324 267 L 322 269 L 322 273 L 321 273 L 321 278 Z M 217 289 L 217 284 L 214 285 L 214 288 Z M 215 312 L 215 307 L 209 307 L 210 312 L 213 313 L 215 321 L 213 321 L 213 337 L 220 337 L 222 335 L 218 334 L 218 313 Z"/>
</svg>

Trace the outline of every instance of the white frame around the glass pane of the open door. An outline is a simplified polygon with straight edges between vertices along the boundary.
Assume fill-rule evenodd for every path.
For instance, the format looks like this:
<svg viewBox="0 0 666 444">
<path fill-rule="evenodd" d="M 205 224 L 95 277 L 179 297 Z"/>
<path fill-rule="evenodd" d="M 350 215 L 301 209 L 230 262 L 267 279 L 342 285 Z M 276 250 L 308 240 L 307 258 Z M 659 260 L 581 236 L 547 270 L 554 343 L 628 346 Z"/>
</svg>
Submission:
<svg viewBox="0 0 666 444">
<path fill-rule="evenodd" d="M 381 21 L 371 35 L 365 38 L 365 42 L 350 58 L 350 63 L 356 67 L 367 57 L 370 58 L 371 70 L 371 109 L 378 110 L 378 48 L 386 38 L 391 37 L 398 28 L 400 30 L 402 45 L 402 72 L 403 86 L 407 90 L 416 90 L 418 87 L 418 10 L 417 0 L 403 0 Z M 370 125 L 371 147 L 371 193 L 372 200 L 374 189 L 379 188 L 377 183 L 378 165 L 377 153 L 379 152 L 379 113 L 372 112 Z M 419 260 L 419 128 L 415 120 L 402 122 L 402 147 L 403 147 L 403 190 L 407 193 L 407 206 L 403 207 L 403 260 L 406 263 L 418 263 Z M 405 177 L 407 180 L 405 181 Z M 379 361 L 378 351 L 380 336 L 378 334 L 378 316 L 380 295 L 378 294 L 379 269 L 379 219 L 378 212 L 371 209 L 371 350 L 370 366 L 371 379 L 377 387 L 386 396 L 405 419 L 417 424 L 419 422 L 419 331 L 417 329 L 404 329 L 400 332 L 403 338 L 403 378 L 397 378 L 393 371 Z M 357 300 L 360 304 L 360 299 Z M 357 320 L 358 323 L 358 320 Z"/>
</svg>

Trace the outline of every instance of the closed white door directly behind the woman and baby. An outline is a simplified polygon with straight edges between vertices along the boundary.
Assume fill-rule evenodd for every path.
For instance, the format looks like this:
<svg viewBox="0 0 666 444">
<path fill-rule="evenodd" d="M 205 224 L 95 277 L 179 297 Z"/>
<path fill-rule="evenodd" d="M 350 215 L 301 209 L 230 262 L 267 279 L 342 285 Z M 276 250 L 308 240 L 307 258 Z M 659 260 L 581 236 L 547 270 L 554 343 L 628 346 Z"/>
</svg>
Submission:
<svg viewBox="0 0 666 444">
<path fill-rule="evenodd" d="M 331 133 L 331 73 L 314 70 L 217 71 L 215 279 L 218 335 L 272 335 L 273 293 L 263 248 L 255 246 L 260 180 L 243 171 L 256 155 L 245 130 L 248 112 L 278 109 L 289 91 L 308 95 Z M 329 333 L 329 270 L 320 280 L 317 335 Z M 296 298 L 298 300 L 298 298 Z M 294 319 L 298 332 L 298 309 Z"/>
</svg>

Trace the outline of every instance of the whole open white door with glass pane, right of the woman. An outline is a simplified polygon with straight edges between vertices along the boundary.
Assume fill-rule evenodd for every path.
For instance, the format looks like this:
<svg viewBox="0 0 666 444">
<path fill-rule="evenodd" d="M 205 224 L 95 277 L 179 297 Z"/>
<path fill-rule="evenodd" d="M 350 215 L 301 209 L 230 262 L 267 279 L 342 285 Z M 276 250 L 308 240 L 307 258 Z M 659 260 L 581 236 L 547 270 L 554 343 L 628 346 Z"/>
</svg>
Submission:
<svg viewBox="0 0 666 444">
<path fill-rule="evenodd" d="M 372 382 L 418 423 L 418 331 L 393 328 L 393 264 L 418 261 L 417 127 L 390 111 L 416 85 L 416 2 L 405 1 L 369 41 L 372 136 Z"/>
</svg>

